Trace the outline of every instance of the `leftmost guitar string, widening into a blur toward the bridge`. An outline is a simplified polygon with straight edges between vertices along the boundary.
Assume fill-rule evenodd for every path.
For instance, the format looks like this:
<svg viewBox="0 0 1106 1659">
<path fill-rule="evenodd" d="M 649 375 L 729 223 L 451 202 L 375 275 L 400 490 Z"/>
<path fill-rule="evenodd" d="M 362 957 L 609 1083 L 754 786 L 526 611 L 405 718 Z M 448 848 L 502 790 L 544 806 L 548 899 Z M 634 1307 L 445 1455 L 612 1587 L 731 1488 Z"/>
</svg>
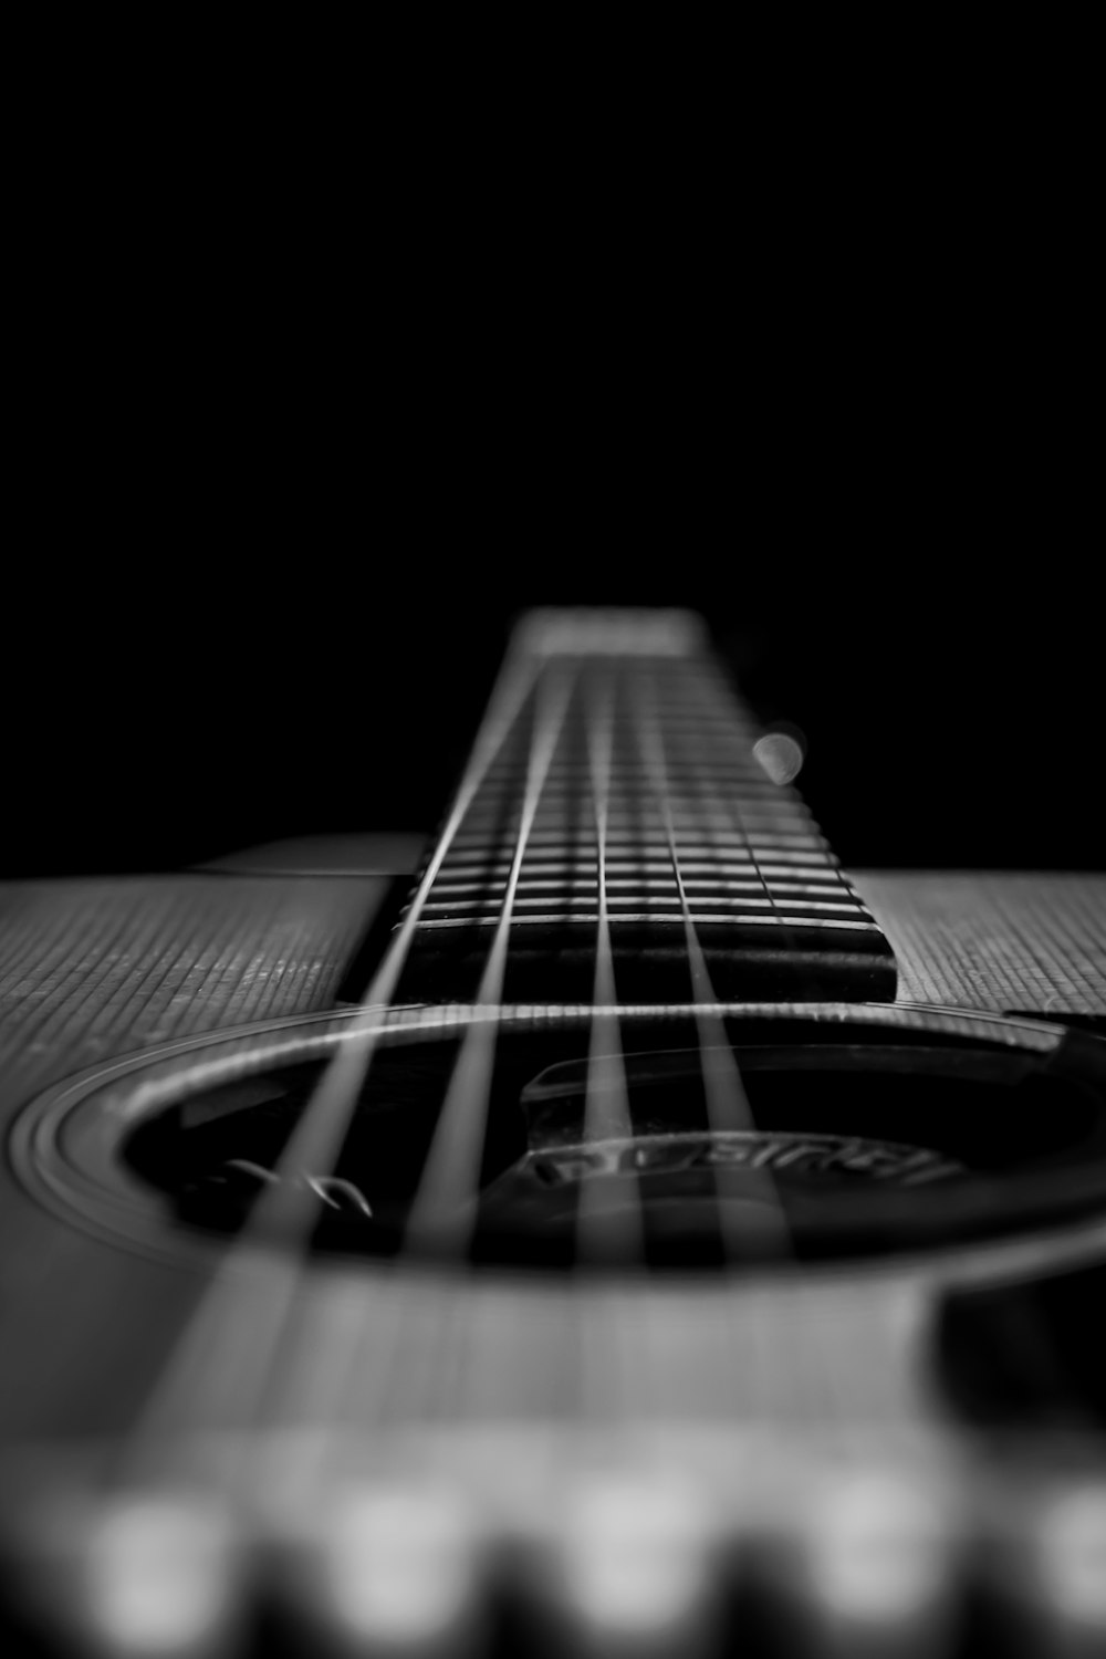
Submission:
<svg viewBox="0 0 1106 1659">
<path fill-rule="evenodd" d="M 149 1481 L 164 1458 L 181 1452 L 189 1432 L 242 1430 L 254 1420 L 305 1281 L 307 1236 L 323 1203 L 317 1188 L 300 1186 L 295 1176 L 337 1166 L 428 894 L 539 672 L 537 659 L 507 655 L 438 844 L 365 994 L 361 1015 L 327 1063 L 277 1163 L 277 1180 L 255 1201 L 163 1364 L 121 1450 L 119 1483 Z M 230 1486 L 240 1478 L 230 1460 L 219 1465 L 219 1473 Z"/>
</svg>

